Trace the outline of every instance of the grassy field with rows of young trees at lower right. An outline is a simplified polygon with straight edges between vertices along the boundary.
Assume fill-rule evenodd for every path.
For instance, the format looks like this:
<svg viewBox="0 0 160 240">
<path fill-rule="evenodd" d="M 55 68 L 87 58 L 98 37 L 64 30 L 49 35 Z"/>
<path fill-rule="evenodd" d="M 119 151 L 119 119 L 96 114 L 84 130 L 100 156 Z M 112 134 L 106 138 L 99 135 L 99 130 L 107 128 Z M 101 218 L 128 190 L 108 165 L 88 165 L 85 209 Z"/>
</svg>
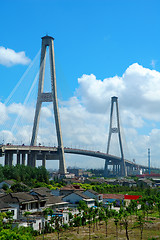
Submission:
<svg viewBox="0 0 160 240">
<path fill-rule="evenodd" d="M 79 213 L 74 216 L 69 213 L 69 226 L 63 225 L 61 218 L 51 213 L 51 228 L 55 233 L 45 234 L 45 239 L 160 239 L 159 212 L 157 203 L 160 202 L 160 193 L 145 196 L 138 201 L 132 200 L 128 205 L 121 202 L 119 211 L 107 208 L 97 203 L 97 207 L 88 208 L 79 202 Z M 113 203 L 114 204 L 114 203 Z M 139 206 L 139 207 L 138 207 Z M 148 213 L 147 213 L 148 212 Z M 156 217 L 155 217 L 156 216 Z M 156 223 L 155 225 L 153 223 Z M 157 228 L 156 228 L 157 226 Z M 152 228 L 154 227 L 154 230 Z M 76 234 L 74 234 L 76 232 Z M 57 236 L 58 234 L 58 236 Z M 73 237 L 74 236 L 74 237 Z M 39 237 L 36 238 L 40 239 Z"/>
</svg>

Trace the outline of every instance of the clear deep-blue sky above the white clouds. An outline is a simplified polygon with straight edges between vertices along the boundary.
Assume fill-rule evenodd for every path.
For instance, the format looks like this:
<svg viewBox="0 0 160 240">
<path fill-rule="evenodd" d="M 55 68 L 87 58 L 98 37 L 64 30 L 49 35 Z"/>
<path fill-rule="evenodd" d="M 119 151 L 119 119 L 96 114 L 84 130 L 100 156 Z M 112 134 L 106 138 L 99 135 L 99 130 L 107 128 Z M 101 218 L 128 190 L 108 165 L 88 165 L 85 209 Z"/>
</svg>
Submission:
<svg viewBox="0 0 160 240">
<path fill-rule="evenodd" d="M 122 75 L 134 62 L 158 65 L 159 1 L 7 0 L 0 6 L 1 45 L 33 59 L 40 38 L 54 36 L 56 57 L 73 89 L 84 73 L 103 79 Z"/>
</svg>

